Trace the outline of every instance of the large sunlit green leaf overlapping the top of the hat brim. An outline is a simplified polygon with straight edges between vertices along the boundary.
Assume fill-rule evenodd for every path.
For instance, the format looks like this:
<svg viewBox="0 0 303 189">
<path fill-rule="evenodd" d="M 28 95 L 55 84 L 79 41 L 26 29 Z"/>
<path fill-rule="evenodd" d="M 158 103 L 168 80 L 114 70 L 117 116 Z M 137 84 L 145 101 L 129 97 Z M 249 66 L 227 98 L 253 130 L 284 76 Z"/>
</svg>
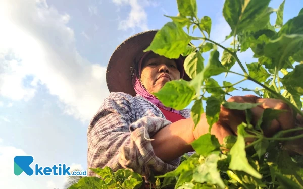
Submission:
<svg viewBox="0 0 303 189">
<path fill-rule="evenodd" d="M 190 40 L 191 37 L 183 31 L 180 24 L 168 22 L 157 32 L 150 46 L 143 52 L 151 50 L 170 59 L 179 58 Z"/>
</svg>

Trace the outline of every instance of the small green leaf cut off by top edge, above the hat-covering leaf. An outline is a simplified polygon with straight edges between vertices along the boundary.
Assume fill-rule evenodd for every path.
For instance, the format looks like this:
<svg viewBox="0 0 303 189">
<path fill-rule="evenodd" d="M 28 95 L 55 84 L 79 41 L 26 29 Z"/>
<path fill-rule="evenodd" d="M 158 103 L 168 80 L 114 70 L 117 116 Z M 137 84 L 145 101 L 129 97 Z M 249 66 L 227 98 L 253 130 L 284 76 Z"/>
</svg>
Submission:
<svg viewBox="0 0 303 189">
<path fill-rule="evenodd" d="M 196 0 L 177 0 L 177 3 L 180 15 L 196 17 L 198 12 Z"/>
</svg>

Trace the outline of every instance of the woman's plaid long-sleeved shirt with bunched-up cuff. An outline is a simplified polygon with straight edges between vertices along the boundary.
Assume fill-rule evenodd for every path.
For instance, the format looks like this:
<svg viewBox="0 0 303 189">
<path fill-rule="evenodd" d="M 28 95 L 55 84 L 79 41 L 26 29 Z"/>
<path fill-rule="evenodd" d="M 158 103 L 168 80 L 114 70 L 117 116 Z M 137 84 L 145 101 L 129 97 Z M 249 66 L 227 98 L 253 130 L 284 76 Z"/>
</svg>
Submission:
<svg viewBox="0 0 303 189">
<path fill-rule="evenodd" d="M 181 110 L 180 114 L 188 118 L 190 109 Z M 171 122 L 161 110 L 144 97 L 112 92 L 87 130 L 88 168 L 127 168 L 146 178 L 151 172 L 165 174 L 174 170 L 180 157 L 166 163 L 155 155 L 150 143 L 150 138 L 168 124 Z M 88 169 L 88 176 L 97 175 Z"/>
</svg>

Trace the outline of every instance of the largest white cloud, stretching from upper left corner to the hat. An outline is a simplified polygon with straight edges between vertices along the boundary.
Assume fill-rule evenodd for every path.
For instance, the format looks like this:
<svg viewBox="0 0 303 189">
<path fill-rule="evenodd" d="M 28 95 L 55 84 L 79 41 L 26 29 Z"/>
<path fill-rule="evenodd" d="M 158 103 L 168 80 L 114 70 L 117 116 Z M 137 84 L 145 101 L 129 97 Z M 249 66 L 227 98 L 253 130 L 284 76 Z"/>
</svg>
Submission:
<svg viewBox="0 0 303 189">
<path fill-rule="evenodd" d="M 38 84 L 45 85 L 65 113 L 87 121 L 109 94 L 106 68 L 80 56 L 69 20 L 43 0 L 2 1 L 0 95 L 29 100 Z M 34 79 L 24 85 L 28 76 Z"/>
</svg>

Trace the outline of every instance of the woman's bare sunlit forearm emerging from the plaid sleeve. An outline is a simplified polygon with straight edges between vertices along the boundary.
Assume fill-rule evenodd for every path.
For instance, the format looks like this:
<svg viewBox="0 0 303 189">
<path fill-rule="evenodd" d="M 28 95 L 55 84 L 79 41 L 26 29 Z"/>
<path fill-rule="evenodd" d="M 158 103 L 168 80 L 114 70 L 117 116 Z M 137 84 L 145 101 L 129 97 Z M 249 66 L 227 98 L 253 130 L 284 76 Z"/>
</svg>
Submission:
<svg viewBox="0 0 303 189">
<path fill-rule="evenodd" d="M 195 130 L 193 128 L 194 122 L 192 118 L 181 119 L 162 128 L 153 136 L 155 140 L 151 141 L 155 155 L 165 162 L 170 162 L 186 152 L 194 151 L 190 143 L 209 132 L 209 124 L 205 113 L 201 115 L 200 122 Z M 220 123 L 215 123 L 211 134 L 216 135 L 219 142 L 222 143 L 223 138 L 231 135 L 231 132 Z"/>
</svg>

